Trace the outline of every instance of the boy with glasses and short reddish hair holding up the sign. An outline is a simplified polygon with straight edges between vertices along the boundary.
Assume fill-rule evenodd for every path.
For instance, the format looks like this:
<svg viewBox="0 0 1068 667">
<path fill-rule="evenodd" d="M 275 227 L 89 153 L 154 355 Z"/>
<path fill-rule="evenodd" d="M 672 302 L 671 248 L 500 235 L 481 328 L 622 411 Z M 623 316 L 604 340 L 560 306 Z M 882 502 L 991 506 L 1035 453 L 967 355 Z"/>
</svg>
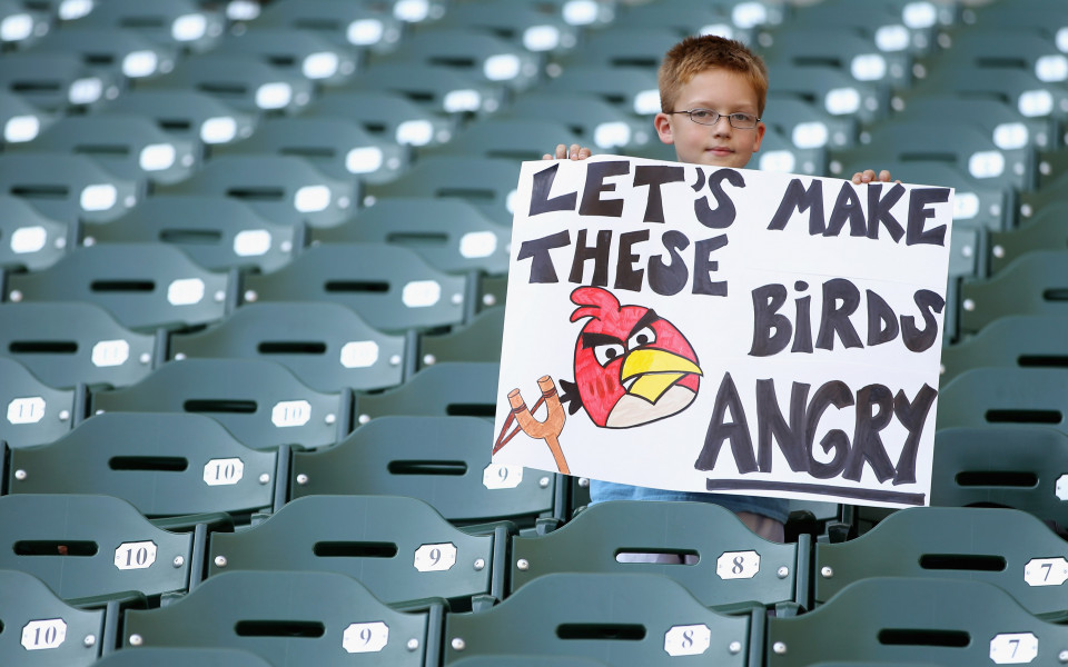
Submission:
<svg viewBox="0 0 1068 667">
<path fill-rule="evenodd" d="M 680 162 L 743 168 L 760 150 L 768 96 L 768 70 L 744 44 L 715 36 L 688 37 L 664 56 L 659 72 L 661 112 L 656 135 L 675 147 Z M 544 159 L 583 160 L 589 148 L 560 145 Z M 854 173 L 857 185 L 889 181 L 886 170 Z M 591 480 L 592 502 L 605 500 L 690 500 L 734 511 L 758 535 L 783 540 L 789 502 L 781 498 L 671 491 Z"/>
</svg>

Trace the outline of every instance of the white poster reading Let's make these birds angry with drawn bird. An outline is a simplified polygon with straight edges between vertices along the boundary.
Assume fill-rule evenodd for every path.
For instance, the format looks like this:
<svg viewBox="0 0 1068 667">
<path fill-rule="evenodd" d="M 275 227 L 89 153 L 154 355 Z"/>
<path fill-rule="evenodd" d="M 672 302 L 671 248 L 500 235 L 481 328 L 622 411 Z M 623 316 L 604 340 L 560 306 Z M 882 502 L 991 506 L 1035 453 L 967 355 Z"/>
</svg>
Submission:
<svg viewBox="0 0 1068 667">
<path fill-rule="evenodd" d="M 927 505 L 952 197 L 619 156 L 525 162 L 494 462 Z"/>
</svg>

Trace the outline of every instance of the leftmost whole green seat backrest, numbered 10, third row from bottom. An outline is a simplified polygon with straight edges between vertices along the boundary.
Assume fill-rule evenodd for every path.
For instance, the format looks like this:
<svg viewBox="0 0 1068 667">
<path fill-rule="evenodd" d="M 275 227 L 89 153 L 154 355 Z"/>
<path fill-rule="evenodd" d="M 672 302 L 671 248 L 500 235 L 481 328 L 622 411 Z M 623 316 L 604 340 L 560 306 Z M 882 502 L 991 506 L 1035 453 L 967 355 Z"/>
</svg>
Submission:
<svg viewBox="0 0 1068 667">
<path fill-rule="evenodd" d="M 11 452 L 10 494 L 106 494 L 146 517 L 274 504 L 276 454 L 237 441 L 202 415 L 109 412 L 46 447 Z"/>
</svg>

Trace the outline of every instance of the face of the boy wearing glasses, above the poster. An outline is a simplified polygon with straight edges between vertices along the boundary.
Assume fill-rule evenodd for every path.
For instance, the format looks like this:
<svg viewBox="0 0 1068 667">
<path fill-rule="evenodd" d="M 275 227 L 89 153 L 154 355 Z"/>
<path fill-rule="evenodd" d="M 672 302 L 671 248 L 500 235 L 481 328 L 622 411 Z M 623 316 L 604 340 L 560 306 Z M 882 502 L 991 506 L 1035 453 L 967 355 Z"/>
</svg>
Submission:
<svg viewBox="0 0 1068 667">
<path fill-rule="evenodd" d="M 689 109 L 711 109 L 722 116 L 714 126 L 705 126 L 686 113 L 656 115 L 656 133 L 664 143 L 674 145 L 680 162 L 741 168 L 760 149 L 764 123 L 742 130 L 726 118 L 730 113 L 756 116 L 756 91 L 744 76 L 719 68 L 700 72 L 679 91 L 672 111 Z"/>
</svg>

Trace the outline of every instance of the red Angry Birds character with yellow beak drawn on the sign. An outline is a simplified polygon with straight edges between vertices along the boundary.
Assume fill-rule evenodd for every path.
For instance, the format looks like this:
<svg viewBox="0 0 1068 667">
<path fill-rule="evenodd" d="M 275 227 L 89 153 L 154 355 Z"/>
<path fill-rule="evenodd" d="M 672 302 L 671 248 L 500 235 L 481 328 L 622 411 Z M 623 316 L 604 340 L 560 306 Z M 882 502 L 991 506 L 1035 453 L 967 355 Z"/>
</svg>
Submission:
<svg viewBox="0 0 1068 667">
<path fill-rule="evenodd" d="M 594 424 L 631 428 L 686 409 L 698 395 L 701 368 L 685 336 L 644 306 L 621 306 L 612 292 L 580 287 L 571 321 L 590 320 L 575 342 L 575 381 L 561 380 L 561 400 Z"/>
</svg>

